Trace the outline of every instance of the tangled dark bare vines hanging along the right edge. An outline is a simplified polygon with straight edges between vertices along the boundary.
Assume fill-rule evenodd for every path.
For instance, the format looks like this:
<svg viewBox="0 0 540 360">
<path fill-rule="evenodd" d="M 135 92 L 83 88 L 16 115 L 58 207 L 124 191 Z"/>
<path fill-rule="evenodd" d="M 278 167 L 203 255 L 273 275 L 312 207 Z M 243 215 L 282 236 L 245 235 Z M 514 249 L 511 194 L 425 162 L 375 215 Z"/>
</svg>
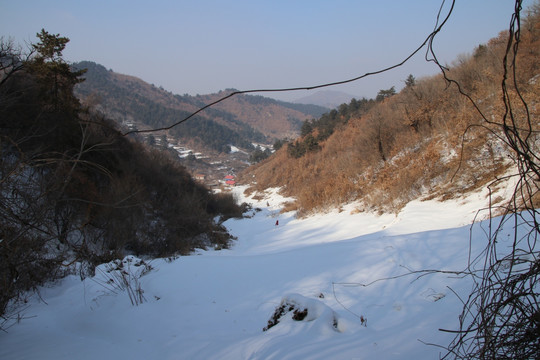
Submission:
<svg viewBox="0 0 540 360">
<path fill-rule="evenodd" d="M 521 11 L 522 1 L 516 0 L 503 59 L 502 119 L 487 120 L 474 104 L 486 127 L 512 150 L 517 183 L 502 217 L 490 220 L 483 253 L 469 262 L 473 291 L 464 301 L 459 330 L 453 331 L 456 336 L 444 358 L 540 358 L 540 219 L 535 208 L 539 133 L 516 80 Z M 513 229 L 510 245 L 502 239 L 503 227 L 509 226 Z"/>
</svg>

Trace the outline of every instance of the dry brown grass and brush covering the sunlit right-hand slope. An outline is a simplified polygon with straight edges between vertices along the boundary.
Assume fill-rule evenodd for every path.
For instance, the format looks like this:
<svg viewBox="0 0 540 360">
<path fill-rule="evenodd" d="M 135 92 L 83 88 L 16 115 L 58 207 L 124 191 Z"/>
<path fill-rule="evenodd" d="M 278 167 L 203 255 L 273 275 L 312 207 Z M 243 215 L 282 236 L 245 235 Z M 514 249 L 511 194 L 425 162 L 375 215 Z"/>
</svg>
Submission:
<svg viewBox="0 0 540 360">
<path fill-rule="evenodd" d="M 535 127 L 539 33 L 524 35 L 529 42 L 522 48 L 528 50 L 522 51 L 517 79 Z M 281 149 L 248 169 L 244 179 L 255 175 L 258 190 L 282 187 L 303 214 L 353 200 L 362 200 L 366 209 L 399 211 L 412 199 L 456 197 L 486 186 L 509 166 L 500 129 L 490 125 L 505 112 L 499 68 L 504 45 L 501 33 L 473 55 L 460 57 L 448 73 L 484 117 L 442 76 L 420 79 L 337 129 L 320 143 L 320 151 L 294 159 Z M 512 89 L 510 94 L 518 96 Z"/>
</svg>

